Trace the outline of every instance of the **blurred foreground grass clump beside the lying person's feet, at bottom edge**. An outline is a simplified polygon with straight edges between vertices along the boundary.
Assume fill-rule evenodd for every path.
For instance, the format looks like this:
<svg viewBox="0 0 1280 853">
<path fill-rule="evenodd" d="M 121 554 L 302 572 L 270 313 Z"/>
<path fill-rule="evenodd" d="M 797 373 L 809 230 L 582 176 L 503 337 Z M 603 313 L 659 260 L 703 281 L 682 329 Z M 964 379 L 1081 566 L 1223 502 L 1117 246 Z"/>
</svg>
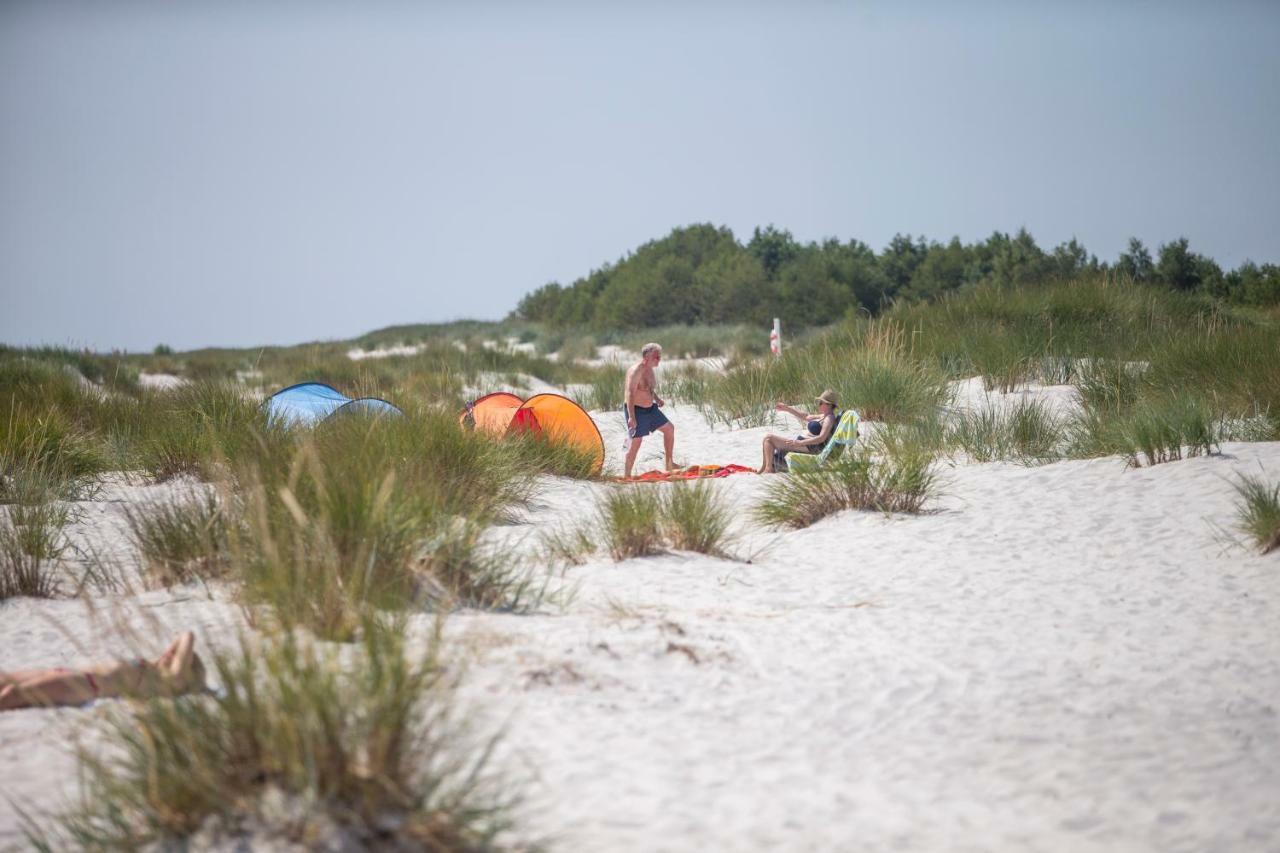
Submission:
<svg viewBox="0 0 1280 853">
<path fill-rule="evenodd" d="M 434 648 L 366 621 L 342 651 L 283 634 L 214 652 L 220 689 L 113 713 L 111 748 L 79 749 L 78 803 L 29 840 L 498 849 L 515 798 L 460 736 Z"/>
</svg>

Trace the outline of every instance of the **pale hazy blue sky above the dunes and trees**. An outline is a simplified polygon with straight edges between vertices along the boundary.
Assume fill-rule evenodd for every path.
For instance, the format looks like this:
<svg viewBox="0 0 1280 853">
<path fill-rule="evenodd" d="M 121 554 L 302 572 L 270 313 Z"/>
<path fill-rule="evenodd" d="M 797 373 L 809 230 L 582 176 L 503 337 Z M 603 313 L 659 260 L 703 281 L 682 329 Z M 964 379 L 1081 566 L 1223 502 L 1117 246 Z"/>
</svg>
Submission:
<svg viewBox="0 0 1280 853">
<path fill-rule="evenodd" d="M 6 3 L 0 342 L 497 319 L 695 222 L 1280 261 L 1277 151 L 1275 3 Z"/>
</svg>

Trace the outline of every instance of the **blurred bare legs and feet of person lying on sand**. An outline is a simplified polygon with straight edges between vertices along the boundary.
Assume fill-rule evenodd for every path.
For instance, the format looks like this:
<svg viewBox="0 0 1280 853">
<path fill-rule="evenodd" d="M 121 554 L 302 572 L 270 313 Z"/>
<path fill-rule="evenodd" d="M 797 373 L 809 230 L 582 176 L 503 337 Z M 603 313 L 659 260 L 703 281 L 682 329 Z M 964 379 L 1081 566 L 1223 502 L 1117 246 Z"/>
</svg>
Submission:
<svg viewBox="0 0 1280 853">
<path fill-rule="evenodd" d="M 205 665 L 196 654 L 196 635 L 184 631 L 155 661 L 138 658 L 83 670 L 0 672 L 0 711 L 84 704 L 116 697 L 175 697 L 204 689 Z"/>
</svg>

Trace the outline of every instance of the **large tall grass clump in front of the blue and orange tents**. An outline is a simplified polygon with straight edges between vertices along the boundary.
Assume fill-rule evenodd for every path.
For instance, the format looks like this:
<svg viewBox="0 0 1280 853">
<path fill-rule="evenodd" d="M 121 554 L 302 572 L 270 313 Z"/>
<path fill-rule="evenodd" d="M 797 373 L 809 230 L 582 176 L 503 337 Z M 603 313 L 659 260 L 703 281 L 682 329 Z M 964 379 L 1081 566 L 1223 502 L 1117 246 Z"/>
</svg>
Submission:
<svg viewBox="0 0 1280 853">
<path fill-rule="evenodd" d="M 530 610 L 544 583 L 481 533 L 566 453 L 581 464 L 576 451 L 494 442 L 438 412 L 326 421 L 237 469 L 244 521 L 232 570 L 251 605 L 269 606 L 265 619 L 332 639 L 349 639 L 369 608 Z"/>
</svg>

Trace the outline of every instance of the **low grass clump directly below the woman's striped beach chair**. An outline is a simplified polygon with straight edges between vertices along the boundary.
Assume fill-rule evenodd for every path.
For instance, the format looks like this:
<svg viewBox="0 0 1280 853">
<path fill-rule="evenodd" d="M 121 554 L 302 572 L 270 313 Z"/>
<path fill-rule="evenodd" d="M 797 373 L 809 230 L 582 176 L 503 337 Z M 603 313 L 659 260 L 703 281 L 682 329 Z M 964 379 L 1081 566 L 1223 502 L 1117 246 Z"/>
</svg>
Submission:
<svg viewBox="0 0 1280 853">
<path fill-rule="evenodd" d="M 877 461 L 870 448 L 850 448 L 817 471 L 778 476 L 755 507 L 769 526 L 806 528 L 842 510 L 920 512 L 937 492 L 932 451 L 900 444 Z"/>
</svg>

